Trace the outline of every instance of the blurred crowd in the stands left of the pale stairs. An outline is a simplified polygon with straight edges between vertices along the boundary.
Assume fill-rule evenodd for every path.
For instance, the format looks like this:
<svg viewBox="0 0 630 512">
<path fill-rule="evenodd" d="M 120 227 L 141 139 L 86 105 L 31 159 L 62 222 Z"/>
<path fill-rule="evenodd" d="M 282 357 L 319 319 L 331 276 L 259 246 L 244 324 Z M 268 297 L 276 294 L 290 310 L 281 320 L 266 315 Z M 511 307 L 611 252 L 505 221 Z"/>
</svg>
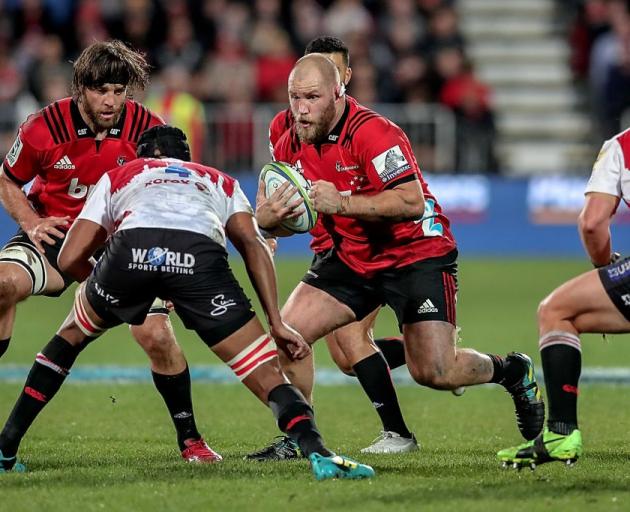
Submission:
<svg viewBox="0 0 630 512">
<path fill-rule="evenodd" d="M 238 118 L 257 103 L 286 103 L 293 63 L 306 43 L 322 34 L 335 35 L 350 48 L 348 90 L 360 102 L 441 103 L 460 121 L 460 138 L 462 130 L 483 131 L 492 141 L 490 90 L 476 78 L 466 56 L 454 4 L 0 0 L 0 154 L 28 113 L 68 94 L 71 61 L 81 49 L 106 38 L 122 39 L 146 53 L 154 76 L 139 99 L 185 128 L 197 158 L 206 147 L 209 108 L 220 105 Z M 240 140 L 245 136 L 237 132 L 238 141 L 224 139 L 222 144 L 236 144 L 233 152 L 246 151 Z M 430 168 L 430 156 L 426 158 L 424 167 Z M 481 162 L 486 168 L 466 170 L 494 170 L 492 158 Z"/>
</svg>

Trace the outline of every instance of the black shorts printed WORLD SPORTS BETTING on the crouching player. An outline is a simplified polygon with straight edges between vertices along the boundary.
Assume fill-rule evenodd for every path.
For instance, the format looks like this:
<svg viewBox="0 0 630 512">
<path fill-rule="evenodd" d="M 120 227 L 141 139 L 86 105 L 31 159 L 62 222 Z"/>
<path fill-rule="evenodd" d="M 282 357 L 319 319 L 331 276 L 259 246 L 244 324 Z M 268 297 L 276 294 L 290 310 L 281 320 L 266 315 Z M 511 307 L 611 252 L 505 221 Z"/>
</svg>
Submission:
<svg viewBox="0 0 630 512">
<path fill-rule="evenodd" d="M 225 249 L 190 231 L 119 231 L 90 275 L 86 293 L 96 314 L 110 326 L 141 324 L 156 297 L 170 300 L 186 328 L 208 345 L 254 317 Z"/>
</svg>

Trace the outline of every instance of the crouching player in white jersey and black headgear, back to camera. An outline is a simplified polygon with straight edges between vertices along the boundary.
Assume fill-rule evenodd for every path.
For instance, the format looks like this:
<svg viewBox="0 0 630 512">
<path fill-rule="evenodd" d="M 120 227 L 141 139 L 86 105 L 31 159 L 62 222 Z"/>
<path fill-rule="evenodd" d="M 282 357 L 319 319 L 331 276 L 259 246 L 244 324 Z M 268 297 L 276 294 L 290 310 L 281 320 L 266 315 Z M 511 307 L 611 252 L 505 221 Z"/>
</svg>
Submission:
<svg viewBox="0 0 630 512">
<path fill-rule="evenodd" d="M 26 388 L 52 398 L 81 347 L 115 325 L 142 324 L 160 297 L 172 301 L 184 325 L 271 408 L 279 428 L 309 458 L 318 480 L 373 476 L 369 466 L 324 446 L 313 410 L 280 369 L 276 343 L 290 359 L 305 357 L 310 346 L 280 317 L 271 253 L 238 182 L 191 163 L 186 136 L 178 128 L 156 126 L 144 132 L 138 156 L 145 158 L 99 180 L 66 236 L 59 266 L 86 281 L 50 342 L 55 353 L 43 358 L 49 372 L 37 381 L 29 376 Z M 92 256 L 110 237 L 94 267 Z M 245 260 L 269 334 L 232 275 L 227 239 Z M 15 446 L 19 439 L 12 442 Z M 0 450 L 4 453 L 2 442 Z"/>
</svg>

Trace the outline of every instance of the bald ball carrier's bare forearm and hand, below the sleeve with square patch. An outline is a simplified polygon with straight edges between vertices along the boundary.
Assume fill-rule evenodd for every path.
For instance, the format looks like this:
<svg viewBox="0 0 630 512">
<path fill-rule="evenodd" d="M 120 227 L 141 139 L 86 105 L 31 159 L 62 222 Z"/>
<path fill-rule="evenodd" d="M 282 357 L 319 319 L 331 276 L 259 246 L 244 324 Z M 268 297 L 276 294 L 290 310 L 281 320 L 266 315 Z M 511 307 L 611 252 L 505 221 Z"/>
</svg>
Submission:
<svg viewBox="0 0 630 512">
<path fill-rule="evenodd" d="M 367 221 L 420 219 L 424 213 L 424 194 L 418 180 L 374 195 L 341 195 L 332 183 L 320 180 L 311 187 L 311 199 L 320 213 Z"/>
</svg>

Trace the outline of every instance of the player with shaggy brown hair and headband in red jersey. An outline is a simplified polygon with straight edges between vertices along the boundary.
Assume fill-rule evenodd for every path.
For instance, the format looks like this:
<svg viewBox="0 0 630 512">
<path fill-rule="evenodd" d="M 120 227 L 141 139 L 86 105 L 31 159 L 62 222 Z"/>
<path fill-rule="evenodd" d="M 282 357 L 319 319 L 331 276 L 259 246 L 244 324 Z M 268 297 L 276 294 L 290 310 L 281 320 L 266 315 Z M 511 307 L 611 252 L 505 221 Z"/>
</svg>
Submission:
<svg viewBox="0 0 630 512">
<path fill-rule="evenodd" d="M 0 201 L 19 226 L 0 251 L 0 355 L 9 346 L 17 303 L 31 295 L 59 296 L 72 283 L 60 271 L 57 255 L 96 182 L 135 158 L 143 130 L 163 124 L 130 99 L 146 86 L 148 70 L 144 57 L 120 41 L 94 43 L 74 63 L 72 97 L 55 101 L 20 126 L 0 172 Z M 22 187 L 31 180 L 26 196 Z M 151 360 L 182 456 L 211 462 L 216 454 L 197 430 L 188 365 L 167 313 L 156 303 L 146 322 L 131 332 Z"/>
</svg>

